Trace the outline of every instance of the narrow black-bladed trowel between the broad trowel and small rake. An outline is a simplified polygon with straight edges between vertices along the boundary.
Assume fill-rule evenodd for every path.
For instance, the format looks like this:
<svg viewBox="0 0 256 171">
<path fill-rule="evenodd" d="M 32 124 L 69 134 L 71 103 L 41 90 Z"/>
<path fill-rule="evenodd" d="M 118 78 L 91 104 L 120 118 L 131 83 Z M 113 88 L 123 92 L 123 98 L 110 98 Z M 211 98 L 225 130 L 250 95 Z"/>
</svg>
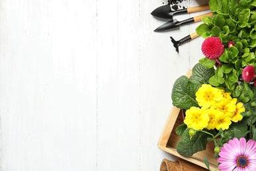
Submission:
<svg viewBox="0 0 256 171">
<path fill-rule="evenodd" d="M 210 17 L 212 17 L 212 12 L 208 12 L 206 14 L 194 16 L 194 17 L 188 18 L 186 20 L 182 20 L 182 21 L 178 21 L 176 19 L 173 19 L 173 20 L 171 20 L 169 22 L 166 22 L 165 24 L 159 26 L 159 28 L 155 29 L 154 32 L 161 32 L 161 31 L 164 31 L 164 30 L 169 30 L 169 29 L 172 29 L 172 28 L 177 28 L 177 27 L 182 26 L 184 24 L 189 24 L 189 23 L 193 23 L 193 22 L 199 22 L 199 21 L 201 21 L 203 16 L 210 16 Z"/>
</svg>

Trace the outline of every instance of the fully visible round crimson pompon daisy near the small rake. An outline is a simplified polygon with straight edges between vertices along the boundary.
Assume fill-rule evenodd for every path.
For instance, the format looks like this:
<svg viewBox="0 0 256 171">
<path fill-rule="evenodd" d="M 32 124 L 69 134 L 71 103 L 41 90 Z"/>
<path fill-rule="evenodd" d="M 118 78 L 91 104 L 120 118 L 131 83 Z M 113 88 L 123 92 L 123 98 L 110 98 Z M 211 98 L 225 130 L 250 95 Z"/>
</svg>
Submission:
<svg viewBox="0 0 256 171">
<path fill-rule="evenodd" d="M 224 45 L 218 37 L 208 37 L 202 42 L 202 53 L 207 59 L 216 60 L 224 53 Z"/>
</svg>

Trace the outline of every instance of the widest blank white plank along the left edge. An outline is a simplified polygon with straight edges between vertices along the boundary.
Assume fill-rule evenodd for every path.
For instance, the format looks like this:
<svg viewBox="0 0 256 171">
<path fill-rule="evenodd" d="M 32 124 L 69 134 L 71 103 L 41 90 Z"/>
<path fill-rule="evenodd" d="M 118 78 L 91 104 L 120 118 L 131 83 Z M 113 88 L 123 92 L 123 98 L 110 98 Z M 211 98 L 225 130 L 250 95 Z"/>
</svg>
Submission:
<svg viewBox="0 0 256 171">
<path fill-rule="evenodd" d="M 1 1 L 1 170 L 96 170 L 96 7 Z"/>
</svg>

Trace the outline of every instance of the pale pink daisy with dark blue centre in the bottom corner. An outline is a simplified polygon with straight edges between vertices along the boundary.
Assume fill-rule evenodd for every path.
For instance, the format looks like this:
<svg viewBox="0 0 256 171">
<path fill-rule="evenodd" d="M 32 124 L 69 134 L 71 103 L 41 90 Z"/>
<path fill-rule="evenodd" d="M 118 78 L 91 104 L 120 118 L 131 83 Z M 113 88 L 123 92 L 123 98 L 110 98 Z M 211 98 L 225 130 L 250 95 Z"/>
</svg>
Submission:
<svg viewBox="0 0 256 171">
<path fill-rule="evenodd" d="M 218 168 L 222 171 L 253 171 L 256 168 L 256 141 L 244 137 L 230 139 L 220 149 Z"/>
</svg>

